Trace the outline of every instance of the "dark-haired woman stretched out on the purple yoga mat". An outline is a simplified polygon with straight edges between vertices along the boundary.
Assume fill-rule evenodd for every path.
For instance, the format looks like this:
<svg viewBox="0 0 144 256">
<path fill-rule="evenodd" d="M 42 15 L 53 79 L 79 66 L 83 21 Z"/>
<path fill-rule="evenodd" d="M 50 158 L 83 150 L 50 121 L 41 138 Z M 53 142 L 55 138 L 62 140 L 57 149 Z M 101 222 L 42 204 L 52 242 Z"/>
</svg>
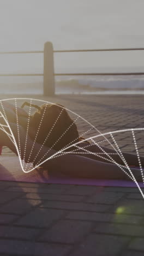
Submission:
<svg viewBox="0 0 144 256">
<path fill-rule="evenodd" d="M 28 105 L 28 102 L 23 103 L 22 107 Z M 76 124 L 70 118 L 67 110 L 55 104 L 44 104 L 39 107 L 37 105 L 31 105 L 32 107 L 36 107 L 37 111 L 34 115 L 31 115 L 29 118 L 29 129 L 27 132 L 27 123 L 28 123 L 28 114 L 27 112 L 17 107 L 17 114 L 19 117 L 19 136 L 17 133 L 17 124 L 16 124 L 16 114 L 15 114 L 15 106 L 9 104 L 7 102 L 3 102 L 3 107 L 5 113 L 7 114 L 10 128 L 13 131 L 13 134 L 16 139 L 17 145 L 20 143 L 21 150 L 21 159 L 24 159 L 25 162 L 32 162 L 33 166 L 37 166 L 40 164 L 41 159 L 46 160 L 50 158 L 53 154 L 56 154 L 58 150 L 61 150 L 68 145 L 72 145 L 71 142 L 80 142 L 77 146 L 81 148 L 81 152 L 85 152 L 85 149 L 88 149 L 89 152 L 92 153 L 100 153 L 101 149 L 105 150 L 106 153 L 116 153 L 115 150 L 110 148 L 102 147 L 101 149 L 96 144 L 90 144 L 89 142 L 82 142 L 81 137 L 79 137 L 79 132 L 77 130 Z M 63 106 L 62 106 L 63 107 Z M 61 113 L 62 112 L 62 113 Z M 61 113 L 60 118 L 58 118 Z M 43 118 L 42 118 L 43 117 Z M 1 124 L 5 124 L 5 121 L 1 118 Z M 42 120 L 42 121 L 41 121 Z M 57 125 L 53 127 L 53 124 L 57 120 Z M 40 124 L 40 130 L 37 134 L 37 139 L 35 141 L 35 135 L 38 131 L 38 127 Z M 71 125 L 71 126 L 70 126 Z M 63 132 L 67 130 L 67 127 L 70 126 L 70 129 L 65 133 L 65 136 L 62 136 Z M 4 127 L 4 126 L 3 126 Z M 16 148 L 13 142 L 10 141 L 7 133 L 2 130 L 2 126 L 0 126 L 0 144 L 1 146 L 7 146 L 14 153 L 17 154 Z M 7 127 L 4 129 L 9 132 Z M 50 133 L 50 136 L 49 136 Z M 47 139 L 45 139 L 48 137 Z M 61 137 L 61 139 L 59 139 Z M 20 140 L 19 140 L 20 138 Z M 25 150 L 25 141 L 27 138 L 27 146 Z M 57 143 L 56 143 L 57 142 Z M 33 143 L 34 147 L 33 147 Z M 89 144 L 88 144 L 89 143 Z M 43 145 L 41 147 L 41 145 Z M 87 146 L 87 147 L 86 147 Z M 33 148 L 33 150 L 32 150 Z M 131 180 L 130 172 L 125 168 L 123 160 L 117 155 L 113 154 L 112 158 L 116 164 L 112 164 L 107 159 L 101 159 L 96 154 L 86 154 L 86 156 L 81 156 L 81 152 L 77 152 L 76 154 L 70 154 L 70 150 L 77 149 L 75 147 L 71 147 L 65 152 L 69 152 L 66 154 L 61 154 L 61 156 L 56 158 L 51 158 L 50 160 L 45 161 L 40 167 L 47 168 L 51 170 L 51 172 L 55 173 L 58 171 L 59 173 L 65 174 L 71 177 L 81 177 L 81 178 L 95 178 L 95 179 L 127 179 Z M 30 154 L 32 150 L 32 154 Z M 39 154 L 37 155 L 37 153 Z M 64 152 L 63 152 L 64 153 Z M 37 155 L 37 158 L 35 158 Z M 134 154 L 123 153 L 125 160 L 129 166 L 139 166 L 139 162 L 137 160 L 137 156 Z M 141 163 L 144 162 L 144 158 L 140 156 Z M 123 170 L 127 173 L 125 173 Z M 132 170 L 132 168 L 131 168 Z M 142 181 L 141 171 L 139 168 L 133 168 L 132 170 L 134 177 L 137 181 Z"/>
</svg>

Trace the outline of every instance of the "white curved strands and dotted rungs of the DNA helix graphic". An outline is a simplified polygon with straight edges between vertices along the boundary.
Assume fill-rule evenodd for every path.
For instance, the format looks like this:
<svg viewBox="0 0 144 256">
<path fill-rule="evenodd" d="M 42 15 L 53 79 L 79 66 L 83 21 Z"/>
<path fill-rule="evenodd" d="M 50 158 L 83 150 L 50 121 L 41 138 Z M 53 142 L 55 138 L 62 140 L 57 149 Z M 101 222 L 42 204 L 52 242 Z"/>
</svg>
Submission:
<svg viewBox="0 0 144 256">
<path fill-rule="evenodd" d="M 53 104 L 53 103 L 48 102 L 48 101 L 43 101 L 43 100 L 38 100 L 38 99 L 32 99 L 32 98 L 31 98 L 31 99 L 30 99 L 30 98 L 10 98 L 10 99 L 1 100 L 1 106 L 2 106 L 2 108 L 3 108 L 2 101 L 9 101 L 9 100 L 15 100 L 15 107 L 16 107 L 16 109 L 17 109 L 16 100 L 30 100 L 30 101 L 31 101 L 31 104 L 32 104 L 32 100 L 44 102 L 44 103 L 46 103 L 46 104 L 47 104 L 47 103 Z M 28 129 L 29 129 L 29 119 L 30 119 L 30 114 L 31 114 L 31 104 L 30 104 L 30 107 L 29 107 L 29 114 L 28 114 L 27 132 L 26 132 L 26 141 L 25 141 L 25 150 L 24 150 L 24 156 L 23 156 L 23 160 L 24 160 L 24 161 L 25 161 L 26 146 L 27 146 L 27 139 L 28 139 Z M 130 174 L 131 174 L 131 177 L 129 176 L 129 174 L 128 174 L 127 172 L 125 172 L 125 173 L 136 183 L 137 188 L 140 190 L 140 193 L 141 193 L 142 197 L 144 198 L 144 195 L 143 195 L 143 193 L 142 193 L 142 190 L 141 190 L 139 184 L 137 183 L 137 181 L 136 181 L 136 179 L 135 179 L 133 173 L 131 172 L 131 170 L 130 170 L 128 164 L 127 164 L 127 161 L 125 160 L 125 158 L 124 158 L 124 156 L 123 156 L 121 150 L 120 150 L 119 147 L 118 147 L 118 144 L 117 144 L 116 141 L 115 141 L 115 138 L 113 137 L 113 134 L 119 133 L 119 132 L 129 132 L 129 131 L 131 131 L 131 132 L 133 133 L 133 140 L 134 140 L 134 143 L 135 143 L 135 149 L 136 149 L 136 153 L 137 153 L 137 159 L 138 159 L 138 161 L 139 161 L 140 170 L 141 170 L 141 174 L 142 174 L 142 179 L 143 179 L 143 181 L 144 181 L 144 178 L 143 178 L 143 171 L 142 171 L 142 166 L 141 166 L 141 161 L 140 161 L 140 156 L 139 156 L 139 152 L 138 152 L 138 149 L 137 149 L 137 144 L 136 144 L 136 139 L 135 139 L 135 134 L 134 134 L 134 131 L 143 131 L 144 128 L 124 129 L 124 130 L 118 130 L 118 131 L 111 131 L 111 132 L 101 133 L 95 126 L 93 126 L 91 123 L 89 123 L 89 121 L 87 121 L 86 119 L 82 118 L 80 115 L 78 115 L 78 114 L 74 113 L 73 111 L 71 111 L 71 110 L 69 110 L 69 109 L 67 109 L 67 108 L 64 108 L 64 107 L 62 107 L 62 106 L 60 106 L 60 105 L 58 105 L 58 104 L 56 104 L 56 105 L 59 106 L 59 107 L 61 107 L 62 109 L 65 109 L 65 110 L 69 111 L 70 113 L 73 113 L 74 115 L 77 116 L 77 118 L 73 121 L 73 123 L 72 123 L 71 125 L 73 125 L 73 124 L 76 122 L 77 119 L 81 118 L 81 120 L 85 121 L 88 125 L 91 126 L 91 128 L 90 128 L 88 131 L 91 131 L 92 129 L 94 129 L 94 130 L 97 131 L 99 134 L 94 135 L 94 136 L 91 136 L 91 137 L 86 138 L 86 139 L 83 139 L 83 141 L 78 141 L 78 142 L 77 142 L 77 139 L 75 139 L 76 142 L 74 142 L 75 140 L 72 141 L 72 142 L 70 142 L 69 144 L 67 144 L 67 146 L 63 147 L 61 150 L 58 150 L 58 152 L 56 152 L 56 153 L 54 153 L 54 154 L 51 155 L 51 149 L 56 145 L 56 143 L 59 141 L 59 139 L 61 139 L 61 138 L 65 135 L 65 133 L 70 129 L 70 127 L 71 127 L 71 125 L 70 125 L 70 126 L 68 127 L 68 129 L 63 132 L 63 134 L 57 139 L 57 141 L 53 144 L 53 146 L 48 150 L 48 152 L 46 152 L 45 155 L 37 162 L 37 166 L 34 166 L 34 167 L 33 167 L 31 170 L 29 170 L 29 171 L 25 171 L 24 168 L 23 168 L 23 165 L 22 165 L 22 161 L 21 161 L 20 149 L 17 147 L 17 143 L 16 143 L 16 140 L 15 140 L 15 136 L 14 136 L 14 134 L 13 134 L 11 128 L 10 128 L 10 125 L 9 125 L 9 122 L 8 122 L 8 119 L 7 119 L 7 115 L 5 114 L 5 111 L 4 111 L 4 108 L 3 108 L 3 113 L 4 113 L 5 117 L 4 117 L 4 115 L 2 114 L 2 112 L 1 112 L 1 115 L 2 115 L 2 117 L 3 117 L 4 121 L 5 121 L 5 123 L 7 124 L 7 127 L 9 128 L 9 131 L 10 131 L 11 135 L 10 135 L 7 131 L 5 131 L 4 127 L 6 128 L 6 126 L 3 126 L 3 125 L 1 124 L 0 129 L 3 130 L 3 131 L 8 135 L 8 137 L 9 137 L 10 139 L 12 139 L 12 142 L 14 143 L 14 146 L 16 147 L 16 150 L 17 150 L 17 155 L 19 156 L 19 160 L 20 160 L 20 164 L 21 164 L 22 171 L 25 172 L 25 173 L 31 172 L 31 171 L 33 171 L 35 168 L 37 168 L 37 167 L 43 165 L 44 162 L 46 162 L 47 160 L 50 160 L 50 159 L 52 159 L 52 158 L 56 158 L 56 157 L 58 157 L 58 155 L 67 154 L 68 152 L 65 152 L 65 150 L 70 149 L 70 148 L 73 148 L 73 147 L 77 147 L 77 150 L 78 150 L 78 149 L 81 149 L 81 147 L 79 147 L 79 144 L 80 144 L 81 142 L 85 142 L 85 141 L 87 141 L 87 140 L 91 140 L 94 145 L 97 145 L 97 147 L 100 148 L 100 150 L 104 153 L 104 155 L 107 155 L 108 159 L 105 158 L 107 161 L 110 161 L 110 162 L 112 162 L 113 164 L 116 164 L 116 165 L 117 165 L 119 168 L 121 168 L 121 170 L 124 171 L 124 172 L 125 172 L 125 170 L 124 170 L 123 168 L 127 168 L 127 169 L 129 170 L 129 172 L 130 172 Z M 17 133 L 19 133 L 19 130 L 18 130 L 18 129 L 19 129 L 19 120 L 18 120 L 18 116 L 17 116 L 17 111 L 16 111 L 16 118 L 17 118 L 17 119 L 16 119 L 16 123 L 17 123 Z M 42 122 L 42 118 L 41 118 L 41 122 Z M 55 125 L 56 125 L 56 124 L 55 124 Z M 54 125 L 54 126 L 55 126 L 55 125 Z M 84 132 L 83 135 L 85 135 L 88 131 Z M 38 135 L 38 131 L 37 131 L 37 135 Z M 118 152 L 119 152 L 119 153 L 117 152 L 116 148 L 110 143 L 109 139 L 107 139 L 107 138 L 105 137 L 105 136 L 107 136 L 107 135 L 110 135 L 110 136 L 112 137 L 112 139 L 113 139 L 113 141 L 114 141 L 114 143 L 115 143 L 115 145 L 116 145 L 116 148 L 118 149 Z M 107 142 L 111 145 L 111 147 L 112 147 L 112 148 L 115 150 L 115 152 L 116 152 L 115 154 L 117 154 L 117 155 L 119 156 L 119 158 L 122 159 L 122 161 L 124 162 L 125 166 L 119 165 L 115 160 L 113 160 L 113 158 L 111 157 L 111 154 L 110 154 L 110 153 L 105 152 L 105 150 L 100 147 L 100 145 L 99 145 L 100 142 L 97 143 L 97 142 L 94 141 L 94 139 L 96 139 L 96 138 L 98 139 L 98 138 L 101 137 L 101 136 L 103 136 L 103 138 L 104 138 L 103 141 L 107 141 Z M 17 137 L 17 136 L 16 136 L 16 137 Z M 18 134 L 18 137 L 19 137 L 19 134 Z M 36 141 L 36 139 L 37 139 L 37 138 L 35 138 L 35 141 Z M 35 143 L 35 141 L 33 142 L 33 144 Z M 19 142 L 19 147 L 20 147 L 20 138 L 18 138 L 18 142 Z M 74 143 L 73 143 L 73 142 L 74 142 Z M 33 147 L 34 147 L 34 146 L 33 146 Z M 33 147 L 32 147 L 32 150 L 33 150 Z M 42 148 L 42 147 L 44 147 L 44 143 L 43 143 L 43 145 L 41 146 L 41 148 Z M 86 147 L 88 147 L 88 145 L 87 145 Z M 40 148 L 40 150 L 41 150 L 41 148 Z M 31 152 L 30 152 L 29 154 L 32 154 L 32 150 L 31 150 Z M 85 151 L 84 153 L 92 154 L 92 152 L 89 152 L 87 149 L 82 148 L 82 150 Z M 76 150 L 74 150 L 74 151 L 76 151 Z M 79 153 L 79 152 L 73 152 L 73 150 L 71 150 L 70 152 L 71 152 L 71 153 Z M 49 157 L 48 157 L 48 158 L 46 158 L 46 155 L 47 155 L 47 154 L 49 154 Z M 104 159 L 104 157 L 101 156 L 101 154 L 97 154 L 97 153 L 94 153 L 94 154 Z M 39 153 L 37 154 L 37 156 L 38 156 L 38 155 L 39 155 Z M 37 159 L 37 156 L 35 157 L 35 159 Z M 30 159 L 30 155 L 29 155 L 29 159 Z"/>
</svg>

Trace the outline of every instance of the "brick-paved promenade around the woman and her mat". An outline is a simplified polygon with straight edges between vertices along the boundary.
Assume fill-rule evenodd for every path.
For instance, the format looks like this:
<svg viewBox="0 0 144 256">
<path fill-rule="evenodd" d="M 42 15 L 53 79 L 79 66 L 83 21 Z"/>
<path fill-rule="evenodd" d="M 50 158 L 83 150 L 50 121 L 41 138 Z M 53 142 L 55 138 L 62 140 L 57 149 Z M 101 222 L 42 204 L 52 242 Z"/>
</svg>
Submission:
<svg viewBox="0 0 144 256">
<path fill-rule="evenodd" d="M 43 99 L 63 104 L 101 132 L 144 127 L 143 96 Z M 136 140 L 143 155 L 139 133 Z M 122 133 L 118 142 L 134 152 L 130 136 Z M 1 181 L 0 190 L 0 255 L 144 255 L 144 201 L 137 188 Z"/>
</svg>

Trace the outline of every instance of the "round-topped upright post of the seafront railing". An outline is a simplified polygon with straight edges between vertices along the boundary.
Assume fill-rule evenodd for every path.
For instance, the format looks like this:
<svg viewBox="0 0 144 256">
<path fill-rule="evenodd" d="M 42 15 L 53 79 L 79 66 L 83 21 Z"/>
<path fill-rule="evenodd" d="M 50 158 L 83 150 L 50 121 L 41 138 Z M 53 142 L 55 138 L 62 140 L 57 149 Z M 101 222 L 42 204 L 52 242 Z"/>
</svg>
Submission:
<svg viewBox="0 0 144 256">
<path fill-rule="evenodd" d="M 51 42 L 44 44 L 44 96 L 55 95 L 55 76 L 53 46 Z"/>
</svg>

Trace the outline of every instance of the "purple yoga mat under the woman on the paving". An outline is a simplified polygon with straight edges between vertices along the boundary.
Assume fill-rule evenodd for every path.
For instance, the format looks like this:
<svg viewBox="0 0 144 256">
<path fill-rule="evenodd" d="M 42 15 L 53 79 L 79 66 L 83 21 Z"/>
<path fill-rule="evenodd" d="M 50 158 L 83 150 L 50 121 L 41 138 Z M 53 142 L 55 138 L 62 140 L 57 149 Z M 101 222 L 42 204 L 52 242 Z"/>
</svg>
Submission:
<svg viewBox="0 0 144 256">
<path fill-rule="evenodd" d="M 133 181 L 111 180 L 111 179 L 86 179 L 71 178 L 66 176 L 52 176 L 47 170 L 33 170 L 24 173 L 21 169 L 17 156 L 1 156 L 0 158 L 0 181 L 17 181 L 31 183 L 53 183 L 53 184 L 76 184 L 92 185 L 101 187 L 137 187 Z M 141 188 L 143 183 L 139 182 Z"/>
</svg>

